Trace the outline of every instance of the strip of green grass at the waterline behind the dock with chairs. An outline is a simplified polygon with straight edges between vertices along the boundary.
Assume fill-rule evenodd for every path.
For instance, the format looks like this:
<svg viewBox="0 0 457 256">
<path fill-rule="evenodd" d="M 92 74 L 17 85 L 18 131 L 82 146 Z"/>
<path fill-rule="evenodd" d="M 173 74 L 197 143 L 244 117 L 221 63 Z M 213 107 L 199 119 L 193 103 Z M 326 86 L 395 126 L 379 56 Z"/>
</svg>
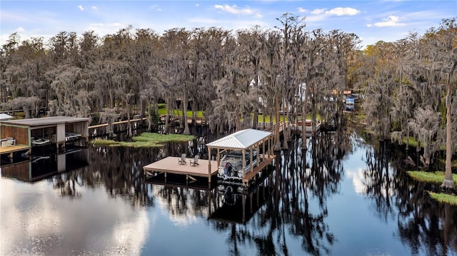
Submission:
<svg viewBox="0 0 457 256">
<path fill-rule="evenodd" d="M 136 147 L 136 148 L 157 148 L 169 142 L 187 142 L 193 140 L 194 135 L 182 135 L 182 134 L 159 134 L 159 133 L 141 133 L 139 136 L 134 136 L 134 141 L 115 141 L 115 140 L 104 140 L 95 139 L 92 140 L 94 145 L 108 145 L 108 146 L 124 146 L 124 147 Z"/>
</svg>

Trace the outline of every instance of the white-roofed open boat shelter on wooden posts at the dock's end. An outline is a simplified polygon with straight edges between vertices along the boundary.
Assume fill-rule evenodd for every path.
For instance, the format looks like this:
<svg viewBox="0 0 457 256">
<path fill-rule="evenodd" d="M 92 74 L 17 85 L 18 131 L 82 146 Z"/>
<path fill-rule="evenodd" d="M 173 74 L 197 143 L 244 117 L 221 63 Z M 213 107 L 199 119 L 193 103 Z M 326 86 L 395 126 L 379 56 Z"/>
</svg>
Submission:
<svg viewBox="0 0 457 256">
<path fill-rule="evenodd" d="M 227 135 L 224 138 L 215 140 L 206 144 L 209 152 L 209 159 L 211 159 L 211 150 L 216 150 L 216 162 L 218 170 L 224 168 L 221 166 L 221 154 L 229 151 L 241 151 L 241 182 L 243 187 L 248 187 L 251 180 L 256 179 L 256 174 L 260 173 L 275 158 L 273 152 L 273 138 L 271 132 L 265 130 L 245 129 L 238 130 L 236 133 Z M 253 155 L 253 151 L 261 154 Z M 246 159 L 248 153 L 248 159 Z M 254 166 L 254 157 L 256 157 L 256 164 Z M 248 166 L 246 166 L 248 163 Z M 214 168 L 208 165 L 209 172 Z M 223 180 L 221 180 L 223 181 Z"/>
</svg>

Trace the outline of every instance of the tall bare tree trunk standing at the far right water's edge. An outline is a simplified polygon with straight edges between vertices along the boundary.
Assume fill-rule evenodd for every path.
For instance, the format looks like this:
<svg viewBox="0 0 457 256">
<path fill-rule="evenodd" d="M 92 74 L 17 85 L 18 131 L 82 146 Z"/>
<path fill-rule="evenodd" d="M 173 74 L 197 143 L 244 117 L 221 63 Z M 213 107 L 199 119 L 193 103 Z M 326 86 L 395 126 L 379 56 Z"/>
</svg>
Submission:
<svg viewBox="0 0 457 256">
<path fill-rule="evenodd" d="M 442 188 L 456 188 L 452 179 L 451 159 L 452 159 L 452 135 L 451 135 L 451 83 L 447 84 L 446 95 L 446 173 L 444 175 Z"/>
</svg>

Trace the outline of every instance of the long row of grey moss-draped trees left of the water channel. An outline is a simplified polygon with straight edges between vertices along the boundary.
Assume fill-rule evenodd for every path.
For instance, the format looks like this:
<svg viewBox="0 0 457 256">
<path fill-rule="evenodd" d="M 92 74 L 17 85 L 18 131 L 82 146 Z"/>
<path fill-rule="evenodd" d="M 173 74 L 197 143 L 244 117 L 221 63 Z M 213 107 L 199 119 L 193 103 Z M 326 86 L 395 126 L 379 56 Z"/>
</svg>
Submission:
<svg viewBox="0 0 457 256">
<path fill-rule="evenodd" d="M 293 113 L 291 121 L 301 112 L 330 116 L 338 106 L 319 99 L 347 87 L 357 36 L 308 31 L 291 14 L 278 21 L 273 29 L 175 28 L 161 35 L 129 26 L 103 38 L 62 31 L 48 42 L 12 34 L 1 48 L 1 108 L 24 110 L 26 118 L 43 108 L 49 116 L 100 113 L 109 121 L 151 116 L 164 101 L 167 113 L 183 110 L 184 133 L 186 120 L 196 117 L 187 117 L 188 106 L 204 111 L 212 130 L 256 126 L 258 113 L 278 122 L 281 109 Z M 308 109 L 301 84 L 312 90 Z"/>
</svg>

